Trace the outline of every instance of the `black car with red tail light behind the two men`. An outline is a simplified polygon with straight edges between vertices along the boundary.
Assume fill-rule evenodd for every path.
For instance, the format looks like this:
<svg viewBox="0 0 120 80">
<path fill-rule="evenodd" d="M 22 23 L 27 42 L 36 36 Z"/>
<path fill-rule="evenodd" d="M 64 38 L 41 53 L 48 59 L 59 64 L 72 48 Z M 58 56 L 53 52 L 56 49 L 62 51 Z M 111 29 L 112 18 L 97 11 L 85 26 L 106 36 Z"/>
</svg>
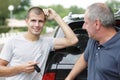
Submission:
<svg viewBox="0 0 120 80">
<path fill-rule="evenodd" d="M 120 17 L 117 14 L 115 18 L 116 26 L 119 29 Z M 70 13 L 68 16 L 64 17 L 63 20 L 74 31 L 79 42 L 74 46 L 50 52 L 43 80 L 64 80 L 87 45 L 89 38 L 87 32 L 82 29 L 84 23 L 83 14 Z M 61 28 L 56 30 L 54 37 L 64 37 Z M 87 80 L 87 68 L 80 73 L 75 80 Z"/>
</svg>

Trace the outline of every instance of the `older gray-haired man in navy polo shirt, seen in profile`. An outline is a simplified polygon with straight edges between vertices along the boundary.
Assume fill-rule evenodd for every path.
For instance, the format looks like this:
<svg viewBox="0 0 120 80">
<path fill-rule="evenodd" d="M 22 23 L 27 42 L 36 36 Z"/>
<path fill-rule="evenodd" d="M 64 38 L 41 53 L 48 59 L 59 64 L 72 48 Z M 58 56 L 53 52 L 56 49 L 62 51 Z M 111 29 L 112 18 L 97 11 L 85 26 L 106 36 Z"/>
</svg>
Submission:
<svg viewBox="0 0 120 80">
<path fill-rule="evenodd" d="M 74 80 L 86 67 L 87 80 L 120 80 L 120 32 L 115 29 L 112 10 L 94 3 L 87 8 L 84 21 L 90 39 L 65 80 Z"/>
</svg>

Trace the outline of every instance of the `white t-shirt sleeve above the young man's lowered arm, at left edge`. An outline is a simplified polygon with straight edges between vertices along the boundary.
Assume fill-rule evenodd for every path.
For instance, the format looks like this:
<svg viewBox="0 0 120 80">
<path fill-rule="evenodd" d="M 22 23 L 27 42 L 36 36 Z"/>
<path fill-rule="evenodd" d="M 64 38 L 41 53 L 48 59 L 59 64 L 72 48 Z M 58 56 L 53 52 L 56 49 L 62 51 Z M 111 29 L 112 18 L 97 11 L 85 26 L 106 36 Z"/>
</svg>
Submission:
<svg viewBox="0 0 120 80">
<path fill-rule="evenodd" d="M 0 58 L 6 61 L 10 61 L 12 58 L 12 51 L 13 51 L 13 45 L 12 45 L 12 38 L 8 39 L 7 42 L 4 44 L 3 49 L 0 53 Z"/>
</svg>

